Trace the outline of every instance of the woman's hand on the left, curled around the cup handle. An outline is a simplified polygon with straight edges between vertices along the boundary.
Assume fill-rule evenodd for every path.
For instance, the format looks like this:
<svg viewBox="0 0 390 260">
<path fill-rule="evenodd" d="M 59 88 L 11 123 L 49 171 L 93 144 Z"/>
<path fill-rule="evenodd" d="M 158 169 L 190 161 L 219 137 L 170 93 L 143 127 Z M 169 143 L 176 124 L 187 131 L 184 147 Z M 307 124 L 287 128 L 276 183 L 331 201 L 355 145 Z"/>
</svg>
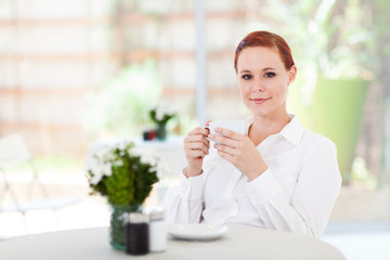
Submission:
<svg viewBox="0 0 390 260">
<path fill-rule="evenodd" d="M 206 139 L 208 134 L 208 129 L 197 127 L 184 138 L 184 153 L 187 160 L 185 176 L 187 178 L 202 173 L 203 160 L 210 148 L 210 141 Z"/>
</svg>

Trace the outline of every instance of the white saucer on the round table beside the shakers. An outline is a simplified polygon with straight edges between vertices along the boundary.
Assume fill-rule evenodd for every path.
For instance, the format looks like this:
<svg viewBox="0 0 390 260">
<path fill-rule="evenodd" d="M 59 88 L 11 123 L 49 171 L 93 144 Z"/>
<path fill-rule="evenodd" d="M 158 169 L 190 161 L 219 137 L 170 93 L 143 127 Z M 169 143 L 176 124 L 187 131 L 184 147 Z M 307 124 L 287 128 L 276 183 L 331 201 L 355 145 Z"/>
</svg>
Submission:
<svg viewBox="0 0 390 260">
<path fill-rule="evenodd" d="M 171 224 L 168 234 L 173 238 L 188 240 L 211 240 L 222 237 L 227 232 L 225 225 L 210 224 Z"/>
</svg>

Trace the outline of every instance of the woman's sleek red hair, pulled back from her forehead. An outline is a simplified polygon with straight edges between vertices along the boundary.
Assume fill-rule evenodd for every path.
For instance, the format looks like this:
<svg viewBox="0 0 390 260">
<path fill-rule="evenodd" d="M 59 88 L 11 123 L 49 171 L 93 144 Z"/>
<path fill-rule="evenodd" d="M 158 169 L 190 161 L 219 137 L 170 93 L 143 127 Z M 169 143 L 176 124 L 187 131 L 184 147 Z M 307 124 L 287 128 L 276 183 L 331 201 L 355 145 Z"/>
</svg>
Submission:
<svg viewBox="0 0 390 260">
<path fill-rule="evenodd" d="M 275 49 L 278 52 L 282 62 L 287 70 L 295 65 L 291 50 L 287 42 L 281 36 L 265 30 L 258 30 L 250 32 L 238 43 L 234 56 L 234 69 L 236 70 L 236 73 L 238 73 L 237 62 L 239 53 L 248 47 L 265 47 L 270 49 Z"/>
</svg>

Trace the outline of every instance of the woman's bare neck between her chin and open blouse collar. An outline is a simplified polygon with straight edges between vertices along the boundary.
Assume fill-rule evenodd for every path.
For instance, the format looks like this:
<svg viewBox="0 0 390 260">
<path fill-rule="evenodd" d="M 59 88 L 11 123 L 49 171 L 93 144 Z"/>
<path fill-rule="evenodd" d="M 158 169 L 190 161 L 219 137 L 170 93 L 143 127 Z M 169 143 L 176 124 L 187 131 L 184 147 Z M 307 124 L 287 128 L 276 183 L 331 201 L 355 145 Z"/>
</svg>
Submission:
<svg viewBox="0 0 390 260">
<path fill-rule="evenodd" d="M 287 113 L 277 117 L 253 116 L 253 122 L 249 128 L 249 139 L 258 146 L 272 134 L 276 134 L 290 121 Z"/>
</svg>

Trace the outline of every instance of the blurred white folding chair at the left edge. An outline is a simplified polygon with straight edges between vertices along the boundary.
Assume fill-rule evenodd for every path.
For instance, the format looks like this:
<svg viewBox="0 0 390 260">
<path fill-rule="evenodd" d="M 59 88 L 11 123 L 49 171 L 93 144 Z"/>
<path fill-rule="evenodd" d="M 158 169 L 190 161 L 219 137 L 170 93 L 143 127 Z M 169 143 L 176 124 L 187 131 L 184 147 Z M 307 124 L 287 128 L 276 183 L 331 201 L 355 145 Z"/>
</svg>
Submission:
<svg viewBox="0 0 390 260">
<path fill-rule="evenodd" d="M 8 180 L 8 172 L 5 169 L 10 167 L 26 164 L 31 172 L 31 179 L 28 182 L 27 194 L 23 199 L 16 196 L 10 181 Z M 50 197 L 43 183 L 39 180 L 38 172 L 34 165 L 32 156 L 23 139 L 20 134 L 11 134 L 0 139 L 0 173 L 4 181 L 2 188 L 0 190 L 0 213 L 9 211 L 18 211 L 23 214 L 25 229 L 26 225 L 26 212 L 28 210 L 51 209 L 54 212 L 55 222 L 58 226 L 56 210 L 65 206 L 75 204 L 79 200 L 78 197 Z M 32 198 L 32 188 L 35 184 L 38 185 L 42 193 L 42 199 Z M 13 205 L 2 206 L 2 203 L 6 194 L 13 202 Z"/>
</svg>

